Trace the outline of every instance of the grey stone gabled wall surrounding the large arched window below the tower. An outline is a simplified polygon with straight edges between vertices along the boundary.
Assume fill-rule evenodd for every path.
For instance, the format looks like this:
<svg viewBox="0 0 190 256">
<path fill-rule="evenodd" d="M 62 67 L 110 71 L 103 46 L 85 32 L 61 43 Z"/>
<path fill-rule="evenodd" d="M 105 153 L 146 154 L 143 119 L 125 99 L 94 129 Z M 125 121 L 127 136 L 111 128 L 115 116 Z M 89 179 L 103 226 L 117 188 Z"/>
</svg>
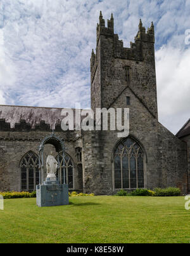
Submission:
<svg viewBox="0 0 190 256">
<path fill-rule="evenodd" d="M 126 97 L 131 104 L 126 106 Z M 130 135 L 143 146 L 146 154 L 145 187 L 179 187 L 187 193 L 186 145 L 158 123 L 142 102 L 127 88 L 111 107 L 129 107 Z M 117 131 L 85 133 L 84 191 L 95 194 L 117 192 L 113 185 L 113 152 L 120 138 Z"/>
</svg>

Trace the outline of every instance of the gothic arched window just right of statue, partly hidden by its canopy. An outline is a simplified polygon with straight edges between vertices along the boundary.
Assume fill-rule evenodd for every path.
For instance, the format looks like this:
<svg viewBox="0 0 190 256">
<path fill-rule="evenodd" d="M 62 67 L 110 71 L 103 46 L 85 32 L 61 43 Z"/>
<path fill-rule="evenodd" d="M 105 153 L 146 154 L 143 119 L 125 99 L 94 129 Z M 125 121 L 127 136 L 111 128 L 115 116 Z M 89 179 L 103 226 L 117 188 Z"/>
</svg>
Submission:
<svg viewBox="0 0 190 256">
<path fill-rule="evenodd" d="M 68 156 L 67 154 L 65 154 L 65 165 L 63 163 L 63 154 L 59 154 L 58 156 L 56 156 L 56 160 L 60 162 L 60 175 L 61 175 L 61 184 L 63 184 L 64 182 L 64 175 L 63 175 L 63 170 L 65 168 L 65 182 L 66 184 L 68 184 L 68 188 L 69 189 L 73 189 L 73 161 L 70 158 L 70 156 Z M 58 172 L 56 172 L 56 176 L 58 177 Z"/>
</svg>

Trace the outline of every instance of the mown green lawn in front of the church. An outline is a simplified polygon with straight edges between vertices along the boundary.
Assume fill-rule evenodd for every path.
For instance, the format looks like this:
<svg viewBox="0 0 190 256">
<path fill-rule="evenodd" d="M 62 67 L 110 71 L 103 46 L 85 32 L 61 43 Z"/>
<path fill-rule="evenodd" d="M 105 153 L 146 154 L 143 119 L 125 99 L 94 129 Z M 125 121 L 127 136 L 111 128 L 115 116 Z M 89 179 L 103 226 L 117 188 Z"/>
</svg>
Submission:
<svg viewBox="0 0 190 256">
<path fill-rule="evenodd" d="M 184 197 L 72 197 L 41 207 L 35 198 L 5 199 L 0 243 L 189 243 Z"/>
</svg>

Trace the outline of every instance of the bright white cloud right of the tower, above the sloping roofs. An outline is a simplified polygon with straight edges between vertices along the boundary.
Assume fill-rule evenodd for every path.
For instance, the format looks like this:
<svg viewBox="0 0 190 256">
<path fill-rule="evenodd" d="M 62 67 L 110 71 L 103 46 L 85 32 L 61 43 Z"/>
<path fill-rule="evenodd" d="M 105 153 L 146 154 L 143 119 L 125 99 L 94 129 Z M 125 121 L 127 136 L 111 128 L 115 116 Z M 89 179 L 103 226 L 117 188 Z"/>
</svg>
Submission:
<svg viewBox="0 0 190 256">
<path fill-rule="evenodd" d="M 177 133 L 190 118 L 190 48 L 163 46 L 156 51 L 160 123 Z"/>
</svg>

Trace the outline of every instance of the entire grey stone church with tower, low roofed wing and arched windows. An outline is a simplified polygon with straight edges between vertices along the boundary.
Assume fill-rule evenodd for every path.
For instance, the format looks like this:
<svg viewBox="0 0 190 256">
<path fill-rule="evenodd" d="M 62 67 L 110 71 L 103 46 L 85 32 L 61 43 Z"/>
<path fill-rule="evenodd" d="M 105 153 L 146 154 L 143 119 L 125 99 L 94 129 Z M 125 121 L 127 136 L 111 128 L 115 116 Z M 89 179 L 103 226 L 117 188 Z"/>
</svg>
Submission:
<svg viewBox="0 0 190 256">
<path fill-rule="evenodd" d="M 124 48 L 114 33 L 113 15 L 106 27 L 100 13 L 96 35 L 91 109 L 128 108 L 129 136 L 118 138 L 118 130 L 109 126 L 63 131 L 59 108 L 1 105 L 0 191 L 35 190 L 39 143 L 54 129 L 65 142 L 65 166 L 60 156 L 60 172 L 65 168 L 70 191 L 115 194 L 120 189 L 173 186 L 187 194 L 189 143 L 158 122 L 153 23 L 146 30 L 140 20 L 134 43 Z M 53 150 L 47 145 L 45 156 Z M 58 152 L 53 154 L 58 158 Z"/>
</svg>

